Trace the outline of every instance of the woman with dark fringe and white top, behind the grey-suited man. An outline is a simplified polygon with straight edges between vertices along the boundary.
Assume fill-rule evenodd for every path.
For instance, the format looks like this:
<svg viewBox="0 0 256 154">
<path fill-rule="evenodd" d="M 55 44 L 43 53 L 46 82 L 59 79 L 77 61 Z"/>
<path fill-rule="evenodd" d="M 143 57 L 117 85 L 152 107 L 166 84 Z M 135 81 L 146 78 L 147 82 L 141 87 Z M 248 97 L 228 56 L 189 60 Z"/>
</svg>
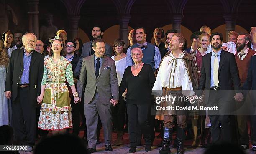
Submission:
<svg viewBox="0 0 256 154">
<path fill-rule="evenodd" d="M 111 58 L 115 60 L 116 73 L 118 77 L 118 86 L 120 86 L 123 73 L 126 68 L 126 54 L 123 53 L 125 48 L 125 42 L 120 38 L 114 41 L 113 50 L 115 56 Z M 125 124 L 125 102 L 123 96 L 120 96 L 118 104 L 112 106 L 113 124 L 117 129 L 117 140 L 115 145 L 123 145 L 123 127 Z"/>
</svg>

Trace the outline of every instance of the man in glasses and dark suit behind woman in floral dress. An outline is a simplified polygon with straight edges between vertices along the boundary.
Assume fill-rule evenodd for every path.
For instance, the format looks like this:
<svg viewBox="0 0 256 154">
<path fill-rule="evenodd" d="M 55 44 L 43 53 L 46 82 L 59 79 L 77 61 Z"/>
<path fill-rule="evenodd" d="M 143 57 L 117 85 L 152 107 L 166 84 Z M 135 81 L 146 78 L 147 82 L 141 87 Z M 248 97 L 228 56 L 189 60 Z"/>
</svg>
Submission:
<svg viewBox="0 0 256 154">
<path fill-rule="evenodd" d="M 66 51 L 67 51 L 67 55 L 66 55 L 66 59 L 68 61 L 70 61 L 70 63 L 72 64 L 72 71 L 74 72 L 74 69 L 77 66 L 77 62 L 79 61 L 79 57 L 77 56 L 77 54 L 75 54 L 75 50 L 76 50 L 76 43 L 74 43 L 73 40 L 68 40 L 66 42 Z M 77 86 L 77 79 L 74 78 L 75 81 L 75 86 Z M 71 104 L 71 114 L 72 114 L 72 122 L 73 122 L 73 135 L 78 136 L 79 135 L 79 126 L 80 126 L 80 108 L 79 108 L 79 104 L 78 103 L 74 103 L 74 96 L 72 93 L 72 90 L 69 86 L 69 84 L 67 83 L 67 81 L 65 82 L 68 85 L 68 89 L 69 89 L 69 97 L 71 98 L 70 104 Z"/>
</svg>

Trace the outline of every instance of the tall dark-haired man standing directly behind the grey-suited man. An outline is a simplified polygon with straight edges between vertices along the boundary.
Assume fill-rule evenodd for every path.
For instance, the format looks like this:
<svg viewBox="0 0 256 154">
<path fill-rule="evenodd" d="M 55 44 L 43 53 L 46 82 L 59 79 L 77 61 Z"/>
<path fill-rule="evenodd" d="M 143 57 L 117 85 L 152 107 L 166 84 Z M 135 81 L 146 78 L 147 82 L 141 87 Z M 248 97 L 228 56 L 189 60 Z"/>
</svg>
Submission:
<svg viewBox="0 0 256 154">
<path fill-rule="evenodd" d="M 94 54 L 94 50 L 92 49 L 92 42 L 97 39 L 97 38 L 102 38 L 103 37 L 104 32 L 102 31 L 102 28 L 100 25 L 95 25 L 92 28 L 92 40 L 90 42 L 86 42 L 83 44 L 83 48 L 82 48 L 82 54 L 79 58 L 79 61 L 77 63 L 77 67 L 74 70 L 74 76 L 78 77 L 81 67 L 82 67 L 82 62 L 83 62 L 83 58 L 84 57 L 88 57 L 90 55 Z M 108 45 L 107 43 L 105 43 L 105 55 L 108 57 L 113 56 L 113 51 L 112 51 L 112 47 L 110 45 Z"/>
</svg>

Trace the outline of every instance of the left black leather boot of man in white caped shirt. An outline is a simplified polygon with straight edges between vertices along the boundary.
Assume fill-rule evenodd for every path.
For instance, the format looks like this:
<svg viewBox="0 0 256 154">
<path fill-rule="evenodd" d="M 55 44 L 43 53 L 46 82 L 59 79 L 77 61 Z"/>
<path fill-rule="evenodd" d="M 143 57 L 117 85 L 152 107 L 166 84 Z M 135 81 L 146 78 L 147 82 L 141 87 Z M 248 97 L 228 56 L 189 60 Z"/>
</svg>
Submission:
<svg viewBox="0 0 256 154">
<path fill-rule="evenodd" d="M 172 128 L 163 128 L 163 146 L 159 149 L 160 154 L 170 154 L 170 143 L 172 141 Z"/>
</svg>

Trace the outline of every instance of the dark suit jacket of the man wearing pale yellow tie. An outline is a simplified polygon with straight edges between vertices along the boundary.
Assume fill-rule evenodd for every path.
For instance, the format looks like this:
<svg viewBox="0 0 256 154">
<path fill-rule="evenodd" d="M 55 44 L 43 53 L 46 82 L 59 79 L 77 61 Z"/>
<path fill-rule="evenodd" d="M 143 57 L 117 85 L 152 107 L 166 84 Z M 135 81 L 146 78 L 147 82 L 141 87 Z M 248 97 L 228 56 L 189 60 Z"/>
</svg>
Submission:
<svg viewBox="0 0 256 154">
<path fill-rule="evenodd" d="M 198 96 L 201 96 L 202 92 L 206 90 L 206 102 L 208 101 L 209 98 L 212 52 L 202 57 L 201 77 L 198 86 L 198 91 L 196 91 L 196 94 Z M 227 99 L 227 101 L 231 101 L 235 93 L 241 92 L 241 81 L 238 75 L 236 59 L 233 53 L 229 53 L 224 50 L 221 51 L 218 73 L 219 89 L 223 91 L 223 98 Z"/>
</svg>

